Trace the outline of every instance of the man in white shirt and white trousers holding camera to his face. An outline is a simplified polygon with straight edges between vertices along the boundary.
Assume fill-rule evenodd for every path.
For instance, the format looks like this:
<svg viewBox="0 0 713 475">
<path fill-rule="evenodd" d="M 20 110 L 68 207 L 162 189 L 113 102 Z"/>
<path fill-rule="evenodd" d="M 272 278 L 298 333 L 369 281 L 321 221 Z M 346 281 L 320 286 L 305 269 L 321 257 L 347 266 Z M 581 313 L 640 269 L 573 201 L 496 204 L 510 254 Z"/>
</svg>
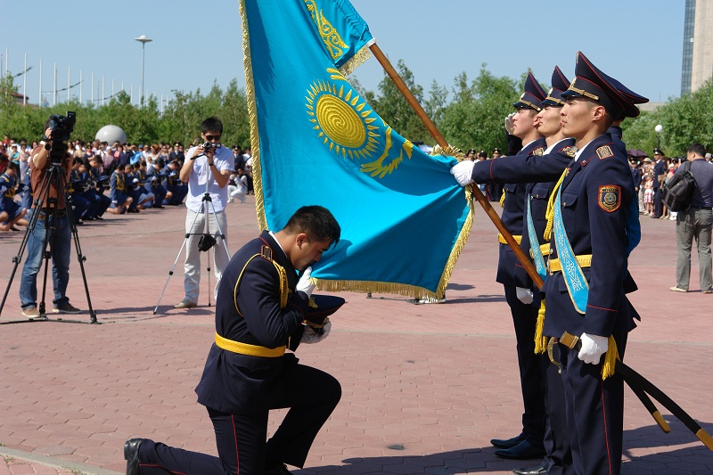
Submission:
<svg viewBox="0 0 713 475">
<path fill-rule="evenodd" d="M 179 176 L 188 183 L 188 195 L 185 207 L 185 233 L 188 242 L 185 246 L 184 289 L 185 298 L 174 308 L 191 308 L 198 305 L 199 283 L 201 283 L 201 249 L 199 242 L 205 244 L 206 235 L 216 240 L 213 252 L 213 268 L 216 274 L 217 295 L 220 277 L 230 260 L 227 250 L 227 219 L 225 204 L 228 201 L 227 184 L 233 168 L 233 153 L 221 146 L 223 123 L 216 117 L 210 117 L 201 123 L 201 145 L 192 147 L 185 154 L 185 162 Z M 205 208 L 208 207 L 208 208 Z M 206 219 L 208 232 L 206 233 Z M 221 235 L 222 234 L 222 235 Z M 201 249 L 199 249 L 201 247 Z"/>
</svg>

